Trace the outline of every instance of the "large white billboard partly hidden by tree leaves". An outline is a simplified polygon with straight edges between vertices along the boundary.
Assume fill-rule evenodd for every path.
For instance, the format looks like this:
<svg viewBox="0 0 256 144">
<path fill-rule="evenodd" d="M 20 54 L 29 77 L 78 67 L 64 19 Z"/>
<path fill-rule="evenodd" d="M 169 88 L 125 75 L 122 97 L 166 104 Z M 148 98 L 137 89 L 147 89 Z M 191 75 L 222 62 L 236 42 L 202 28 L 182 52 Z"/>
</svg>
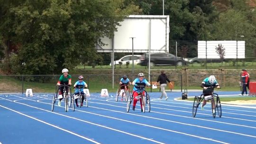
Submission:
<svg viewBox="0 0 256 144">
<path fill-rule="evenodd" d="M 98 52 L 168 53 L 169 16 L 130 15 L 120 22 L 113 39 L 101 38 L 107 45 L 97 44 Z"/>
</svg>

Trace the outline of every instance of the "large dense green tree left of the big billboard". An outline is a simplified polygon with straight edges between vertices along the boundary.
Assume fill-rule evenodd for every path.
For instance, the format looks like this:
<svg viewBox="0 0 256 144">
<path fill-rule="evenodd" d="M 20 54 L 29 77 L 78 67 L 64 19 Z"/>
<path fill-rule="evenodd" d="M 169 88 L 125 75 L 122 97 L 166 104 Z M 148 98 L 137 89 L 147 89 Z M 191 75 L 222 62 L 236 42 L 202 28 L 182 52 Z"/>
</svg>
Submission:
<svg viewBox="0 0 256 144">
<path fill-rule="evenodd" d="M 25 62 L 26 74 L 60 73 L 81 62 L 81 54 L 93 60 L 100 37 L 111 37 L 116 26 L 139 10 L 123 0 L 1 0 L 1 41 L 21 46 L 13 57 L 15 66 Z M 104 45 L 100 43 L 101 45 Z M 2 45 L 4 45 L 2 43 Z M 101 58 L 96 58 L 99 60 Z M 15 62 L 15 63 L 14 63 Z"/>
</svg>

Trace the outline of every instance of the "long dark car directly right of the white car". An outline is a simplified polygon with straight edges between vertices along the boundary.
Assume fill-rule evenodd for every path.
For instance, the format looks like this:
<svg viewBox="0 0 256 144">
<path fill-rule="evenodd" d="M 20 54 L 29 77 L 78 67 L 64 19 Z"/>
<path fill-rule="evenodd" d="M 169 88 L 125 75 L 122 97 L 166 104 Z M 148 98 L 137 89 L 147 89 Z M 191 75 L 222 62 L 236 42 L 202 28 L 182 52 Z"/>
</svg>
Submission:
<svg viewBox="0 0 256 144">
<path fill-rule="evenodd" d="M 140 59 L 140 65 L 148 65 L 148 53 L 143 54 Z M 175 58 L 174 54 L 169 53 L 152 53 L 150 54 L 150 65 L 185 65 L 185 61 L 181 57 Z"/>
</svg>

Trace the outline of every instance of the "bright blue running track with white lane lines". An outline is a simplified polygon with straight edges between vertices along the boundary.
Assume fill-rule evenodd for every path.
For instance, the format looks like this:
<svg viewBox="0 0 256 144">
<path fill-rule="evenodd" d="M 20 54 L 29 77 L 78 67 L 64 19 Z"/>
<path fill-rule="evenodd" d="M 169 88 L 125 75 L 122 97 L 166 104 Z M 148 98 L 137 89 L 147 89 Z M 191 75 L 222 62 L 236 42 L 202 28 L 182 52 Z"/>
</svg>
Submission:
<svg viewBox="0 0 256 144">
<path fill-rule="evenodd" d="M 221 100 L 239 91 L 218 93 Z M 207 103 L 193 118 L 192 102 L 175 100 L 181 92 L 167 94 L 164 100 L 160 92 L 149 93 L 151 111 L 145 113 L 139 102 L 127 113 L 114 93 L 91 93 L 88 108 L 68 112 L 64 102 L 51 111 L 53 94 L 0 94 L 0 144 L 256 144 L 256 104 L 222 104 L 222 117 L 213 118 Z"/>
</svg>

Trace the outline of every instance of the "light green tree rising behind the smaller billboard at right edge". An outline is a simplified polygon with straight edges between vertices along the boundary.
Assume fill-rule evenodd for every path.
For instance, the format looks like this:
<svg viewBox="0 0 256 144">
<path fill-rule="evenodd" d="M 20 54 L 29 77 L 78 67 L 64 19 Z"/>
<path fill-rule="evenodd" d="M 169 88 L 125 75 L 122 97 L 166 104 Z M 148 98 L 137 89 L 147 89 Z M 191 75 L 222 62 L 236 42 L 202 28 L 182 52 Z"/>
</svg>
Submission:
<svg viewBox="0 0 256 144">
<path fill-rule="evenodd" d="M 229 0 L 212 27 L 214 40 L 246 41 L 246 57 L 256 56 L 256 11 L 246 0 Z"/>
</svg>

